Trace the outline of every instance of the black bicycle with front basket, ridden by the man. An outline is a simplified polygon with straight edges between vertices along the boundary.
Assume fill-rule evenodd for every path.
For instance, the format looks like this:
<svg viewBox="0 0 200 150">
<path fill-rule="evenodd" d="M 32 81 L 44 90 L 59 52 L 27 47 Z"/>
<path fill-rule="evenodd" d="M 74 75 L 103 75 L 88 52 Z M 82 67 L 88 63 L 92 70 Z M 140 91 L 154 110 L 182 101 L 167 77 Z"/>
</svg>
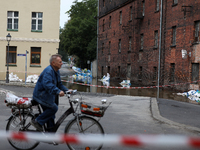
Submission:
<svg viewBox="0 0 200 150">
<path fill-rule="evenodd" d="M 71 119 L 65 126 L 64 134 L 104 134 L 104 129 L 99 123 L 101 117 L 103 117 L 107 106 L 95 106 L 91 103 L 83 102 L 82 96 L 80 93 L 80 99 L 72 99 L 74 95 L 77 95 L 77 90 L 67 92 L 66 96 L 69 100 L 70 107 L 60 116 L 60 118 L 55 123 L 55 126 L 51 129 L 53 132 L 57 132 L 60 125 L 64 120 L 70 115 L 73 114 L 74 118 Z M 28 98 L 24 98 L 28 99 Z M 39 114 L 42 113 L 42 108 L 40 104 L 35 103 L 34 100 L 31 100 L 29 106 L 10 104 L 5 101 L 9 107 L 11 107 L 12 114 L 8 118 L 8 123 L 6 126 L 6 131 L 20 131 L 20 132 L 41 132 L 37 131 L 31 124 L 30 121 L 35 119 Z M 106 100 L 102 100 L 102 105 L 106 104 Z M 34 113 L 33 106 L 36 107 L 36 113 Z M 78 111 L 80 110 L 80 111 Z M 91 117 L 93 116 L 93 117 Z M 95 119 L 94 117 L 99 117 Z M 48 133 L 48 128 L 46 125 L 43 126 L 43 135 Z M 18 150 L 31 150 L 38 146 L 39 141 L 29 140 L 29 141 L 19 141 L 14 139 L 8 139 L 9 143 Z M 55 142 L 50 142 L 50 144 L 57 144 Z M 71 143 L 66 143 L 70 150 L 76 149 L 88 149 L 88 150 L 100 150 L 102 148 L 102 143 L 98 146 L 92 145 L 74 145 Z"/>
</svg>

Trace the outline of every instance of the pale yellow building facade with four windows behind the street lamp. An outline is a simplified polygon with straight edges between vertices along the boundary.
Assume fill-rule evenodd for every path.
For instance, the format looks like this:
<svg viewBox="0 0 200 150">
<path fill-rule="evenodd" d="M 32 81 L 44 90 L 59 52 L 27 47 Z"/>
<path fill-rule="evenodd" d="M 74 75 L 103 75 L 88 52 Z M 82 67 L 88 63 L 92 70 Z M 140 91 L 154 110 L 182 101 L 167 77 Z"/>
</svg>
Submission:
<svg viewBox="0 0 200 150">
<path fill-rule="evenodd" d="M 9 73 L 25 80 L 49 65 L 59 47 L 60 0 L 1 0 L 0 5 L 0 80 L 5 80 L 9 42 Z"/>
</svg>

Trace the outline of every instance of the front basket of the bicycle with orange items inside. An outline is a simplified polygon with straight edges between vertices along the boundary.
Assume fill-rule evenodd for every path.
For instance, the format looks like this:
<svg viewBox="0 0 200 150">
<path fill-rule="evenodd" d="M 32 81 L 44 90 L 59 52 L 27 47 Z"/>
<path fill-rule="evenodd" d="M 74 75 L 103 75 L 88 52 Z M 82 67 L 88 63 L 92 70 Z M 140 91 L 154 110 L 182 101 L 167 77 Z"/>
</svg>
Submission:
<svg viewBox="0 0 200 150">
<path fill-rule="evenodd" d="M 103 117 L 104 112 L 107 109 L 107 107 L 105 106 L 97 106 L 86 102 L 81 102 L 80 108 L 81 108 L 81 113 L 95 117 Z"/>
</svg>

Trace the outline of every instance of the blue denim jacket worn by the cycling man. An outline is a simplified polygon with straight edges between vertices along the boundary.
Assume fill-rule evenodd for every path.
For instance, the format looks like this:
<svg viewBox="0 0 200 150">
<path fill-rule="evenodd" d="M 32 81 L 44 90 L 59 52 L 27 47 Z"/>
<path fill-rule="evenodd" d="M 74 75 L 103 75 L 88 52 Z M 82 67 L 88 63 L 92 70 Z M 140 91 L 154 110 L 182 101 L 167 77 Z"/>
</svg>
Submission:
<svg viewBox="0 0 200 150">
<path fill-rule="evenodd" d="M 49 65 L 39 76 L 33 91 L 33 99 L 41 105 L 52 107 L 55 103 L 55 97 L 60 91 L 65 92 L 67 90 L 68 89 L 61 82 L 59 70 L 55 71 L 53 67 Z"/>
</svg>

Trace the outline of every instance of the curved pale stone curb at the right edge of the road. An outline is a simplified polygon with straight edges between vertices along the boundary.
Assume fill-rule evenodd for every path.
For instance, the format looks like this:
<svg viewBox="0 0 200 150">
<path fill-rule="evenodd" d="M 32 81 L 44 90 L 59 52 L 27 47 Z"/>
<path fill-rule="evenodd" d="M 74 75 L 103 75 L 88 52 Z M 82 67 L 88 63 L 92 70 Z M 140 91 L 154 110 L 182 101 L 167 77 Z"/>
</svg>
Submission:
<svg viewBox="0 0 200 150">
<path fill-rule="evenodd" d="M 159 107 L 158 107 L 158 101 L 157 101 L 156 98 L 150 98 L 150 109 L 151 109 L 151 114 L 152 114 L 153 118 L 160 121 L 160 122 L 166 123 L 166 124 L 174 126 L 174 127 L 186 129 L 186 130 L 189 130 L 189 131 L 192 131 L 192 132 L 200 133 L 200 128 L 181 124 L 181 123 L 177 123 L 177 122 L 174 122 L 174 121 L 171 121 L 169 119 L 162 117 L 160 115 L 160 111 L 159 111 Z"/>
</svg>

